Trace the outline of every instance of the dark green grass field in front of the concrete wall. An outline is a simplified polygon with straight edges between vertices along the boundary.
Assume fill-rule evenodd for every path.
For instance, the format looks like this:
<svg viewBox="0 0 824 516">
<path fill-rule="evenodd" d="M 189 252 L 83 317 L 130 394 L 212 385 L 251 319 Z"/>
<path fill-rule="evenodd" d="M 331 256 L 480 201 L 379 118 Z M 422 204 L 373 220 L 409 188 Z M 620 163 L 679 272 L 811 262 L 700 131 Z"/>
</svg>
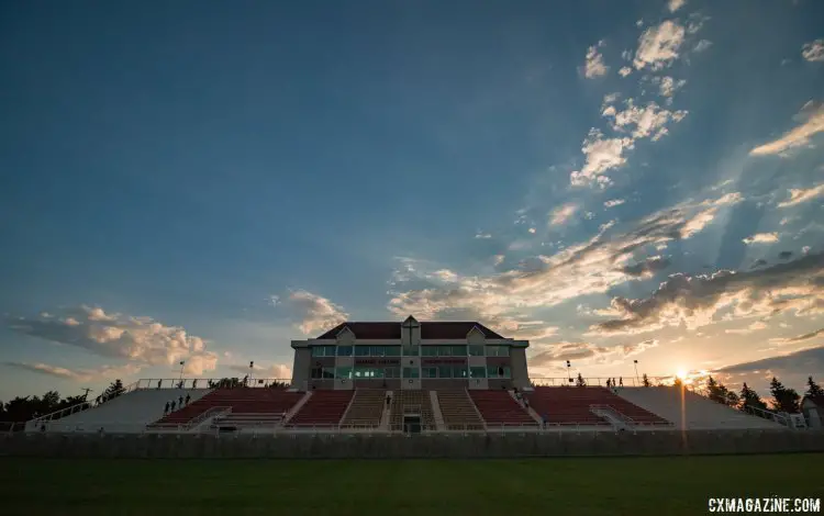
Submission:
<svg viewBox="0 0 824 516">
<path fill-rule="evenodd" d="M 0 514 L 706 514 L 710 496 L 824 497 L 822 464 L 824 455 L 487 461 L 0 459 Z"/>
</svg>

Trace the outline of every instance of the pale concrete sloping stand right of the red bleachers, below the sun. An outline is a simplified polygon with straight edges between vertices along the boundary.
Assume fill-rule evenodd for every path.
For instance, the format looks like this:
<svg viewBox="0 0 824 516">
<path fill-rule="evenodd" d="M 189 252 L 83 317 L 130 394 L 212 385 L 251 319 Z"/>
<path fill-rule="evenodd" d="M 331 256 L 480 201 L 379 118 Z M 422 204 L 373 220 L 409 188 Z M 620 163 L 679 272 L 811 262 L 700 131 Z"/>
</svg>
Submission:
<svg viewBox="0 0 824 516">
<path fill-rule="evenodd" d="M 617 395 L 688 430 L 777 429 L 784 426 L 715 403 L 686 389 L 619 388 Z M 683 393 L 683 397 L 681 397 Z"/>
</svg>

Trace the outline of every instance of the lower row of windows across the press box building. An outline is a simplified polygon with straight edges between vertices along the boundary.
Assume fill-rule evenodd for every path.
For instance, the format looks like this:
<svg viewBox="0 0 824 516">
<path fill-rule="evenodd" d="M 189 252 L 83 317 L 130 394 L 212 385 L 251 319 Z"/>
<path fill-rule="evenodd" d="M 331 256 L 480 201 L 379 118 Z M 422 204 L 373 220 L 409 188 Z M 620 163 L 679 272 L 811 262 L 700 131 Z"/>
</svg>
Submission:
<svg viewBox="0 0 824 516">
<path fill-rule="evenodd" d="M 401 375 L 403 372 L 403 375 Z M 372 378 L 441 378 L 441 379 L 467 379 L 467 378 L 511 378 L 508 367 L 454 367 L 438 366 L 421 368 L 313 368 L 311 378 L 313 380 L 364 380 Z"/>
</svg>

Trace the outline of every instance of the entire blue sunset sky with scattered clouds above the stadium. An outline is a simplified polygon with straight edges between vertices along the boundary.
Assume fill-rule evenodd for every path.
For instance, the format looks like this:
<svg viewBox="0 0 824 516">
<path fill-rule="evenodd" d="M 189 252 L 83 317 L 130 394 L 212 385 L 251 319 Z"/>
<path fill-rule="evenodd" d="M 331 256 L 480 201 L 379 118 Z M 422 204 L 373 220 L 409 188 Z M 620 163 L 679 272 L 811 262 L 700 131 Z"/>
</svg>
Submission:
<svg viewBox="0 0 824 516">
<path fill-rule="evenodd" d="M 533 377 L 824 380 L 824 3 L 4 2 L 0 400 L 290 378 L 349 321 Z"/>
</svg>

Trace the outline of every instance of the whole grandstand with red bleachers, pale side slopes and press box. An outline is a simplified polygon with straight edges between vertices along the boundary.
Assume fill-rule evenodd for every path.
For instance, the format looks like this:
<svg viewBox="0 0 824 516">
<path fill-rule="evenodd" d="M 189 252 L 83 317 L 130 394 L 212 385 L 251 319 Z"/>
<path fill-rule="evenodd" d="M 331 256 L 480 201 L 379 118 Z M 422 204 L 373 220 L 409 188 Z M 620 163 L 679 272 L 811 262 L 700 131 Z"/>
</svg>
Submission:
<svg viewBox="0 0 824 516">
<path fill-rule="evenodd" d="M 283 382 L 141 380 L 26 425 L 48 433 L 489 433 L 782 429 L 673 388 L 533 386 L 526 340 L 474 322 L 342 323 L 294 340 Z M 230 386 L 226 386 L 230 385 Z M 165 386 L 165 388 L 164 388 Z M 189 396 L 165 414 L 166 402 Z"/>
</svg>

